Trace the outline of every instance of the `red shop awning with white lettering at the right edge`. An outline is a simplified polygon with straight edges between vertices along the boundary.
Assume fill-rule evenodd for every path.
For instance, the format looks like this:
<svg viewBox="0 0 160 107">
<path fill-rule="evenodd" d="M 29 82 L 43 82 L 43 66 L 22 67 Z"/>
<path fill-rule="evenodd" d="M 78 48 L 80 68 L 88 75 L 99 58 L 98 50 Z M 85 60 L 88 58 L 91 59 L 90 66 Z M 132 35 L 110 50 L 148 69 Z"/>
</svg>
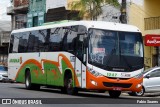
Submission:
<svg viewBox="0 0 160 107">
<path fill-rule="evenodd" d="M 147 34 L 145 35 L 146 46 L 160 46 L 160 35 Z"/>
</svg>

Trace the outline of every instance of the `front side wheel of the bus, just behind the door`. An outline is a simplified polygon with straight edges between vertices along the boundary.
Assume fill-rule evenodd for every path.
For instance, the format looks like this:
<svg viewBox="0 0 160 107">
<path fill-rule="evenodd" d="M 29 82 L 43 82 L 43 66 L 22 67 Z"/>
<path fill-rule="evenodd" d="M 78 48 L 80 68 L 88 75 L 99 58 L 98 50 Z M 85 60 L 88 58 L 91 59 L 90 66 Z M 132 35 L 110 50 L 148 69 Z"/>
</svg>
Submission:
<svg viewBox="0 0 160 107">
<path fill-rule="evenodd" d="M 71 74 L 68 75 L 65 79 L 65 88 L 67 94 L 74 95 L 78 93 L 78 90 L 75 87 L 73 87 L 73 78 Z"/>
</svg>

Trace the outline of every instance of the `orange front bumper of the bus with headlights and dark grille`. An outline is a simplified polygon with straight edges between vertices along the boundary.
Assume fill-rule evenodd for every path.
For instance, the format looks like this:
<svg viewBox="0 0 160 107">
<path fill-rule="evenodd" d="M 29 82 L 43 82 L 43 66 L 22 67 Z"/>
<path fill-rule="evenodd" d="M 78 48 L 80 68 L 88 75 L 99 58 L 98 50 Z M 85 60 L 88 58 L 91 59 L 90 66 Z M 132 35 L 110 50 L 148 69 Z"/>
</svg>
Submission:
<svg viewBox="0 0 160 107">
<path fill-rule="evenodd" d="M 89 90 L 117 90 L 140 92 L 143 77 L 141 78 L 108 78 L 105 76 L 95 77 L 87 72 L 86 88 Z"/>
</svg>

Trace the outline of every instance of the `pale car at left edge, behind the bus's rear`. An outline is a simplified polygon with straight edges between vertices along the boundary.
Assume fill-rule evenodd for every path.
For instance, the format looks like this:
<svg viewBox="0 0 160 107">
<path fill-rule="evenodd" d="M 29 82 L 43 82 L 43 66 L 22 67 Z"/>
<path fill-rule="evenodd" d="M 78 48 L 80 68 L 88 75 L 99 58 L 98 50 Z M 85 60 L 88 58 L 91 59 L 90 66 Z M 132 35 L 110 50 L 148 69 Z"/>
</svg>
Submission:
<svg viewBox="0 0 160 107">
<path fill-rule="evenodd" d="M 7 67 L 0 65 L 0 81 L 5 82 L 8 81 L 8 70 Z"/>
</svg>

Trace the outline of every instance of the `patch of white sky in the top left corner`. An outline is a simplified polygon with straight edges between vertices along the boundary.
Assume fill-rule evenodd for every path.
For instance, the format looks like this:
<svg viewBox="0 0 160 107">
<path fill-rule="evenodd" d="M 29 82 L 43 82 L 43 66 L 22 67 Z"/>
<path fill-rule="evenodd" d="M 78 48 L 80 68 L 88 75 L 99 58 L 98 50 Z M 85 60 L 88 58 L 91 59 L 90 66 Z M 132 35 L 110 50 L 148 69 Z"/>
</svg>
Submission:
<svg viewBox="0 0 160 107">
<path fill-rule="evenodd" d="M 7 7 L 10 6 L 10 0 L 0 0 L 0 20 L 11 20 L 11 16 L 7 15 Z"/>
</svg>

